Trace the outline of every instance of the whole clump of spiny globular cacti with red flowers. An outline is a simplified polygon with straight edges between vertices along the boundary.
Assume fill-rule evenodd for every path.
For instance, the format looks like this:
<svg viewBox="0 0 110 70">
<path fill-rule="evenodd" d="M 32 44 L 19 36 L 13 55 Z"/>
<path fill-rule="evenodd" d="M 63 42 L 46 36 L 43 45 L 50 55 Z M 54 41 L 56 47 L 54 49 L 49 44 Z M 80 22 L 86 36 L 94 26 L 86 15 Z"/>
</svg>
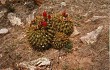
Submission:
<svg viewBox="0 0 110 70">
<path fill-rule="evenodd" d="M 30 45 L 39 51 L 50 47 L 60 50 L 70 43 L 69 35 L 73 32 L 73 23 L 66 12 L 50 15 L 46 11 L 37 16 L 27 30 Z"/>
</svg>

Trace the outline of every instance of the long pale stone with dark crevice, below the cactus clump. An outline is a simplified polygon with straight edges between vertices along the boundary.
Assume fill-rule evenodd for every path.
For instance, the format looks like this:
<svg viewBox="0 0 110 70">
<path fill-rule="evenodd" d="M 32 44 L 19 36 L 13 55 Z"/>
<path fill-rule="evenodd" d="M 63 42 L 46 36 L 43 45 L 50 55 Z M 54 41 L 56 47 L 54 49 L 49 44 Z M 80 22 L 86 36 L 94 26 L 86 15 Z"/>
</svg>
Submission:
<svg viewBox="0 0 110 70">
<path fill-rule="evenodd" d="M 42 58 L 38 58 L 37 60 L 21 62 L 17 66 L 29 70 L 35 70 L 37 66 L 41 67 L 41 66 L 49 66 L 49 65 L 50 65 L 50 60 L 48 58 L 42 57 Z"/>
</svg>

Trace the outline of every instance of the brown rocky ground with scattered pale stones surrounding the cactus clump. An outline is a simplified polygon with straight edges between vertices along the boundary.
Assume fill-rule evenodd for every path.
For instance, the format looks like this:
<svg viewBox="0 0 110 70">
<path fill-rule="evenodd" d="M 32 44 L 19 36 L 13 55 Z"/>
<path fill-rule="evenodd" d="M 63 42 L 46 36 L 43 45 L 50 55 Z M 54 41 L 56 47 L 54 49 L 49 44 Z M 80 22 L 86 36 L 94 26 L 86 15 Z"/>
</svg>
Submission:
<svg viewBox="0 0 110 70">
<path fill-rule="evenodd" d="M 0 70 L 109 70 L 109 0 L 0 1 Z M 26 26 L 44 10 L 72 17 L 71 52 L 29 45 Z"/>
</svg>

